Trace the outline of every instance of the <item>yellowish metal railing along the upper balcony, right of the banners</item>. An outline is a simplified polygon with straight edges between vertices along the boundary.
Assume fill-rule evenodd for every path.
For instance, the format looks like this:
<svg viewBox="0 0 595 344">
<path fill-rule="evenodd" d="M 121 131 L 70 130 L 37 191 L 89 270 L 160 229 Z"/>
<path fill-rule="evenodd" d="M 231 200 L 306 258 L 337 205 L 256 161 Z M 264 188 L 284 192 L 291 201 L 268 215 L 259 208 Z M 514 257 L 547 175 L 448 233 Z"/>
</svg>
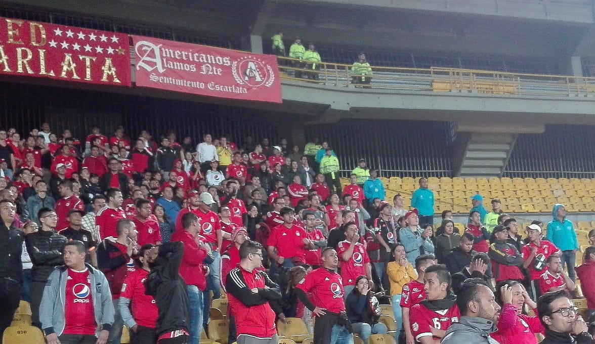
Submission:
<svg viewBox="0 0 595 344">
<path fill-rule="evenodd" d="M 337 87 L 365 87 L 392 90 L 485 93 L 534 96 L 595 96 L 595 77 L 510 73 L 464 68 L 406 68 L 371 66 L 371 83 L 354 83 L 352 65 L 320 62 L 320 69 L 307 68 L 295 58 L 278 57 L 281 79 L 307 81 Z M 317 76 L 317 79 L 308 77 Z"/>
</svg>

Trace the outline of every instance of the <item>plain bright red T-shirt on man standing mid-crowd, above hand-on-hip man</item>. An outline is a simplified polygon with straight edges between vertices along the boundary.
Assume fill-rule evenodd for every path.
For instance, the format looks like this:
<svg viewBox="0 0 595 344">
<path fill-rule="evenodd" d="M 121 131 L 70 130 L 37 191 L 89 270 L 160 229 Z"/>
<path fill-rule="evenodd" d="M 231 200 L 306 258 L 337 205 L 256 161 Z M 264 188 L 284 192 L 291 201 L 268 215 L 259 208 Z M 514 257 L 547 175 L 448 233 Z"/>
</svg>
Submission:
<svg viewBox="0 0 595 344">
<path fill-rule="evenodd" d="M 302 227 L 292 224 L 291 228 L 287 228 L 281 224 L 271 230 L 267 246 L 277 248 L 277 255 L 283 258 L 296 258 L 301 262 L 305 262 L 306 249 L 302 240 L 307 237 L 306 230 Z"/>
</svg>

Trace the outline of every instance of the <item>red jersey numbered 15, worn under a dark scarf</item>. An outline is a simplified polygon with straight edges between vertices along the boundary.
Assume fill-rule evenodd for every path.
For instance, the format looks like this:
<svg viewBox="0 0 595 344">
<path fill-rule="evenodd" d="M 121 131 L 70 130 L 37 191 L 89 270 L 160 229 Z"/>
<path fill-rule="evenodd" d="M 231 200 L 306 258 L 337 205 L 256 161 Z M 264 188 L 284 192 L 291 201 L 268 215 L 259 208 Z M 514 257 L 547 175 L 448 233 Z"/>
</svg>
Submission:
<svg viewBox="0 0 595 344">
<path fill-rule="evenodd" d="M 446 330 L 450 324 L 458 322 L 460 318 L 461 312 L 456 304 L 447 309 L 434 311 L 423 304 L 417 304 L 409 311 L 411 333 L 418 342 L 421 342 L 421 337 L 425 336 L 431 336 L 433 340 L 440 340 L 439 337 L 432 336 L 432 329 Z"/>
</svg>

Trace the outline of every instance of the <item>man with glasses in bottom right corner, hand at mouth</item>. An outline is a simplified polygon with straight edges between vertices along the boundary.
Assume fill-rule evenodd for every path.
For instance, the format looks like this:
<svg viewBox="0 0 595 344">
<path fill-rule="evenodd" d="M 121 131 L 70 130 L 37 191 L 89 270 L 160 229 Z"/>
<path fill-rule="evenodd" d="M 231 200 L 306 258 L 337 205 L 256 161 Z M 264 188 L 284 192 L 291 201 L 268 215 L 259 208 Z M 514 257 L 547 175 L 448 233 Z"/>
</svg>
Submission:
<svg viewBox="0 0 595 344">
<path fill-rule="evenodd" d="M 546 328 L 546 339 L 540 344 L 592 344 L 593 337 L 577 311 L 563 290 L 541 296 L 537 300 L 537 313 Z"/>
</svg>

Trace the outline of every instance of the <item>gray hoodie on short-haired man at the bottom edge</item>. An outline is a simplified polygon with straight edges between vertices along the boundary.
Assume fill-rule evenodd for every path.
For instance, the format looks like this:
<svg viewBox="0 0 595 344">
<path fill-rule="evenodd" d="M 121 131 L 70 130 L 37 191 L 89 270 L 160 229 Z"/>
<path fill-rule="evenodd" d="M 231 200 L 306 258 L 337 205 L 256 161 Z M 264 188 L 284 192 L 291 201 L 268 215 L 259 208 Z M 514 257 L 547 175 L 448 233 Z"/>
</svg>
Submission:
<svg viewBox="0 0 595 344">
<path fill-rule="evenodd" d="M 490 333 L 496 332 L 496 325 L 490 320 L 478 317 L 461 317 L 458 323 L 450 325 L 441 344 L 499 344 L 490 337 Z"/>
</svg>

